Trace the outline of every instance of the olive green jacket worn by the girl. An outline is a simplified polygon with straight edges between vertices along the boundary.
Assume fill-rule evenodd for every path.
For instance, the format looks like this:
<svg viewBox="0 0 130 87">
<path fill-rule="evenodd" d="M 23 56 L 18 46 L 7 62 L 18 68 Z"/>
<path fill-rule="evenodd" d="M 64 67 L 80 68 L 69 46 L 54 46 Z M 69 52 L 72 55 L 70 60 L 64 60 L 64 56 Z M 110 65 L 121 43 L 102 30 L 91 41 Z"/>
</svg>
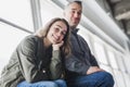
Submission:
<svg viewBox="0 0 130 87">
<path fill-rule="evenodd" d="M 16 87 L 22 80 L 36 83 L 61 78 L 62 59 L 60 50 L 53 51 L 52 47 L 46 49 L 41 38 L 27 36 L 3 69 L 0 87 Z"/>
</svg>

